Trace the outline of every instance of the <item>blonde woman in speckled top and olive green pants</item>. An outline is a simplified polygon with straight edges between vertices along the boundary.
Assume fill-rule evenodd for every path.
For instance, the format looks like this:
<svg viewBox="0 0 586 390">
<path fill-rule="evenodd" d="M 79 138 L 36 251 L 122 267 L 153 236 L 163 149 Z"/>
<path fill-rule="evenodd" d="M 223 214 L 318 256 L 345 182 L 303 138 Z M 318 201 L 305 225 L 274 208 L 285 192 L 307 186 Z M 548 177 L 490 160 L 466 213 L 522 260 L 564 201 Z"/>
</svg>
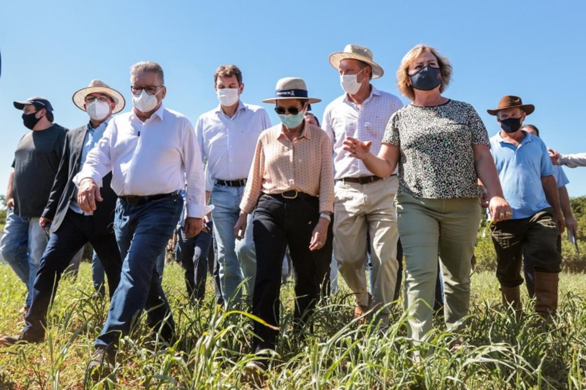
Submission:
<svg viewBox="0 0 586 390">
<path fill-rule="evenodd" d="M 397 70 L 397 85 L 412 103 L 391 116 L 378 156 L 371 141 L 347 137 L 345 150 L 374 174 L 399 164 L 397 223 L 406 257 L 405 300 L 415 341 L 431 329 L 438 254 L 444 280 L 444 318 L 458 332 L 470 303 L 471 258 L 481 218 L 481 189 L 493 220 L 509 219 L 486 128 L 471 105 L 442 96 L 452 67 L 423 44 Z"/>
</svg>

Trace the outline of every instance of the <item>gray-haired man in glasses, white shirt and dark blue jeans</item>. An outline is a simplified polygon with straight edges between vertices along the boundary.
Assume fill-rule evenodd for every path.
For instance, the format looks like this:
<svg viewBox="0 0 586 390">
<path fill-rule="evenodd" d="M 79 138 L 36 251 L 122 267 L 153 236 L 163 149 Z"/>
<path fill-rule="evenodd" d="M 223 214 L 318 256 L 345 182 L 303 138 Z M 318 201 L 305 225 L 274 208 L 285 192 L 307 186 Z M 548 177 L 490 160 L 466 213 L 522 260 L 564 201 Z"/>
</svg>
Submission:
<svg viewBox="0 0 586 390">
<path fill-rule="evenodd" d="M 156 272 L 156 257 L 183 209 L 180 189 L 187 185 L 186 236 L 200 232 L 209 211 L 195 131 L 185 116 L 163 107 L 161 66 L 151 61 L 133 65 L 130 82 L 134 109 L 110 120 L 74 177 L 84 212 L 92 212 L 102 200 L 102 178 L 110 171 L 111 188 L 118 195 L 114 232 L 122 274 L 94 344 L 96 353 L 88 367 L 94 379 L 110 373 L 118 339 L 130 332 L 132 319 L 142 309 L 148 310 L 147 324 L 153 332 L 171 340 L 175 324 Z"/>
</svg>

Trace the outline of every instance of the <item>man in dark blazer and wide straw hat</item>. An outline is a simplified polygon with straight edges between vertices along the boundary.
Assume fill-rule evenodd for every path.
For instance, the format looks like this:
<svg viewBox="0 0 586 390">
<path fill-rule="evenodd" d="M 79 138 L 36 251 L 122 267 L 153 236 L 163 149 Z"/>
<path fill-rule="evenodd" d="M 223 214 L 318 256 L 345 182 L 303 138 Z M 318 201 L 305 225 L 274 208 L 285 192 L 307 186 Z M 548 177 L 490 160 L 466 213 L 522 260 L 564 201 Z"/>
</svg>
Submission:
<svg viewBox="0 0 586 390">
<path fill-rule="evenodd" d="M 67 133 L 49 202 L 39 221 L 39 225 L 49 229 L 51 235 L 36 275 L 32 305 L 22 333 L 0 338 L 0 345 L 19 341 L 39 343 L 45 339 L 47 310 L 59 279 L 71 258 L 87 242 L 91 243 L 102 261 L 110 297 L 120 281 L 122 260 L 112 228 L 117 200 L 110 188 L 112 175 L 104 177 L 101 188 L 104 200 L 93 213 L 80 209 L 77 187 L 72 179 L 80 171 L 90 149 L 100 141 L 111 115 L 124 108 L 124 97 L 104 82 L 93 80 L 87 88 L 73 95 L 73 102 L 88 113 L 90 123 Z"/>
</svg>

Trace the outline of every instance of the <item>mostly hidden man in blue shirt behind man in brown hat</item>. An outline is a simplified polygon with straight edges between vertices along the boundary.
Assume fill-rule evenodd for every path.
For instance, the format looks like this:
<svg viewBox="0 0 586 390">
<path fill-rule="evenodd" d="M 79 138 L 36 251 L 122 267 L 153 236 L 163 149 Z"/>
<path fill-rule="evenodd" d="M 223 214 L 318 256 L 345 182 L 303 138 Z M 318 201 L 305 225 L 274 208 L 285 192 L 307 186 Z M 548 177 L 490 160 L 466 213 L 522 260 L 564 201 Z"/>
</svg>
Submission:
<svg viewBox="0 0 586 390">
<path fill-rule="evenodd" d="M 525 132 L 539 137 L 539 129 L 534 125 L 523 125 L 521 129 Z M 564 213 L 565 228 L 568 230 L 568 234 L 575 234 L 578 224 L 574 218 L 574 213 L 570 205 L 570 196 L 565 185 L 570 182 L 568 177 L 565 175 L 564 170 L 560 165 L 553 166 L 553 177 L 556 179 L 558 197 L 560 198 L 561 210 Z M 561 235 L 557 236 L 557 251 L 561 256 Z M 525 285 L 527 287 L 527 293 L 529 298 L 535 297 L 535 281 L 533 277 L 533 258 L 530 253 L 523 251 L 523 272 L 525 274 Z"/>
</svg>

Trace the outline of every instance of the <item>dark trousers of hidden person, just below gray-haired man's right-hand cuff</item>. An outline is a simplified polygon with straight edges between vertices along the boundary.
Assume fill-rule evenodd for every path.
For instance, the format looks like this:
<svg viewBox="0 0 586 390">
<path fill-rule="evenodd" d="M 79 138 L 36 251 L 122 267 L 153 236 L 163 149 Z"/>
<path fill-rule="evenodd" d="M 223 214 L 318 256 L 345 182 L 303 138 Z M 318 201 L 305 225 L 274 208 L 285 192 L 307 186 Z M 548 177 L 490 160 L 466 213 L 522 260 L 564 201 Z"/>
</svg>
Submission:
<svg viewBox="0 0 586 390">
<path fill-rule="evenodd" d="M 177 230 L 179 257 L 185 270 L 185 286 L 189 298 L 201 301 L 206 295 L 207 254 L 212 246 L 213 232 L 201 232 L 190 239 L 185 237 L 183 227 Z M 219 282 L 217 278 L 216 283 Z"/>
</svg>

